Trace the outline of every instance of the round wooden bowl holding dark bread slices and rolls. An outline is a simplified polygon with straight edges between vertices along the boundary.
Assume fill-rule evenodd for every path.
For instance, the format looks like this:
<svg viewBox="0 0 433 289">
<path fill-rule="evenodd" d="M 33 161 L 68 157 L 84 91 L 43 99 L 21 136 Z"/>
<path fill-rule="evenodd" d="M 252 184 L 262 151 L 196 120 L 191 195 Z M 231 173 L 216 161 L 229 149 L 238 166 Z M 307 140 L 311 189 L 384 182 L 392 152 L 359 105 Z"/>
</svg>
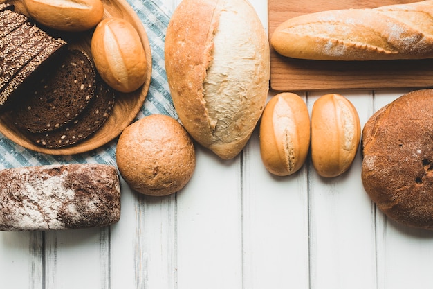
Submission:
<svg viewBox="0 0 433 289">
<path fill-rule="evenodd" d="M 6 1 L 0 0 L 0 3 L 2 2 L 4 3 Z M 7 2 L 15 5 L 15 11 L 28 15 L 26 8 L 21 1 L 15 0 Z M 35 143 L 30 141 L 26 135 L 19 131 L 12 119 L 12 115 L 9 113 L 3 113 L 0 115 L 0 132 L 5 137 L 24 148 L 36 152 L 42 152 L 48 155 L 75 155 L 82 152 L 89 152 L 90 150 L 94 150 L 95 148 L 99 148 L 100 146 L 109 143 L 109 141 L 118 137 L 118 135 L 136 118 L 145 102 L 147 91 L 149 91 L 152 67 L 149 40 L 147 39 L 145 28 L 142 26 L 142 22 L 138 18 L 138 15 L 136 15 L 136 12 L 133 11 L 131 6 L 129 6 L 125 0 L 102 0 L 102 3 L 104 3 L 104 18 L 123 18 L 129 21 L 138 31 L 147 55 L 147 78 L 145 84 L 131 93 L 119 93 L 109 119 L 107 119 L 104 125 L 102 125 L 95 134 L 80 143 L 75 143 L 74 145 L 65 148 L 43 148 L 37 146 Z M 64 39 L 68 42 L 69 46 L 82 49 L 91 55 L 90 44 L 92 33 L 93 30 L 86 31 L 85 33 L 73 33 L 71 34 L 72 37 L 71 35 L 68 35 Z"/>
</svg>

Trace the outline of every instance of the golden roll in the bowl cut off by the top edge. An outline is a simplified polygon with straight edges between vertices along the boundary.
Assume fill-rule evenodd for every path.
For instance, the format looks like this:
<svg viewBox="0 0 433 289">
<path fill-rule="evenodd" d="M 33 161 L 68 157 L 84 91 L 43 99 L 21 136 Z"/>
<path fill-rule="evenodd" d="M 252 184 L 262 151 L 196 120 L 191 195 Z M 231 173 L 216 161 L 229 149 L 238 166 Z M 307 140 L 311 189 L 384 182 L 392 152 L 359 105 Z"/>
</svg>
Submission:
<svg viewBox="0 0 433 289">
<path fill-rule="evenodd" d="M 84 31 L 102 20 L 101 0 L 24 0 L 28 14 L 45 26 L 64 31 Z"/>
</svg>

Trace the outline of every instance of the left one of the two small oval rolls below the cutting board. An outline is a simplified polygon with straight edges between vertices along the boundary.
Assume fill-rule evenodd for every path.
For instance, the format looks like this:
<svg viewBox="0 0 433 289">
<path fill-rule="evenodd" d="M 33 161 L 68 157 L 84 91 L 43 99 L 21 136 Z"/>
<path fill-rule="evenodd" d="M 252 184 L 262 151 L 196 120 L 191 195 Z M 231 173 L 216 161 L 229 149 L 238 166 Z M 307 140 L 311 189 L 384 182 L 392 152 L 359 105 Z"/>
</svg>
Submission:
<svg viewBox="0 0 433 289">
<path fill-rule="evenodd" d="M 310 148 L 310 116 L 306 103 L 292 93 L 277 94 L 260 122 L 260 154 L 274 175 L 291 175 L 305 162 Z"/>
</svg>

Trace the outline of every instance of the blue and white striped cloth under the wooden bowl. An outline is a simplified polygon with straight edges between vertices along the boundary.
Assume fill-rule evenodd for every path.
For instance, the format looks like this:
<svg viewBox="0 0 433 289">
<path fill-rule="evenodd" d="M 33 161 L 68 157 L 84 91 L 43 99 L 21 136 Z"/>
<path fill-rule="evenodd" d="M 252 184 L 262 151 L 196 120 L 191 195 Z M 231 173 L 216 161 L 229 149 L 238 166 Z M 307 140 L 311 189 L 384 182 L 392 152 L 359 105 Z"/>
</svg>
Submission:
<svg viewBox="0 0 433 289">
<path fill-rule="evenodd" d="M 169 94 L 164 64 L 165 31 L 170 12 L 160 0 L 127 0 L 140 17 L 149 38 L 152 74 L 149 92 L 136 119 L 150 114 L 167 114 L 178 119 Z M 91 152 L 70 156 L 54 156 L 23 148 L 0 134 L 0 169 L 46 164 L 116 164 L 116 140 Z"/>
</svg>

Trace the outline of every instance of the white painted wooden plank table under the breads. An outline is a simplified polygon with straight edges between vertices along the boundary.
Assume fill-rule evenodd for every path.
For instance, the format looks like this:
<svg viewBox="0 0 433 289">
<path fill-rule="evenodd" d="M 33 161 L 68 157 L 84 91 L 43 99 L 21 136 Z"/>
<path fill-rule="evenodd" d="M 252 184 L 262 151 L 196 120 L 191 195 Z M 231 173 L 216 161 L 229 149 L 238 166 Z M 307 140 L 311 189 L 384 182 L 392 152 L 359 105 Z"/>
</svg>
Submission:
<svg viewBox="0 0 433 289">
<path fill-rule="evenodd" d="M 251 3 L 267 27 L 266 1 Z M 327 92 L 347 96 L 363 126 L 407 91 L 300 95 L 310 110 Z M 1 232 L 0 288 L 433 288 L 433 232 L 376 209 L 360 153 L 347 173 L 324 179 L 309 161 L 290 177 L 270 175 L 257 131 L 232 161 L 196 151 L 194 176 L 175 195 L 150 198 L 122 182 L 116 225 Z"/>
</svg>

